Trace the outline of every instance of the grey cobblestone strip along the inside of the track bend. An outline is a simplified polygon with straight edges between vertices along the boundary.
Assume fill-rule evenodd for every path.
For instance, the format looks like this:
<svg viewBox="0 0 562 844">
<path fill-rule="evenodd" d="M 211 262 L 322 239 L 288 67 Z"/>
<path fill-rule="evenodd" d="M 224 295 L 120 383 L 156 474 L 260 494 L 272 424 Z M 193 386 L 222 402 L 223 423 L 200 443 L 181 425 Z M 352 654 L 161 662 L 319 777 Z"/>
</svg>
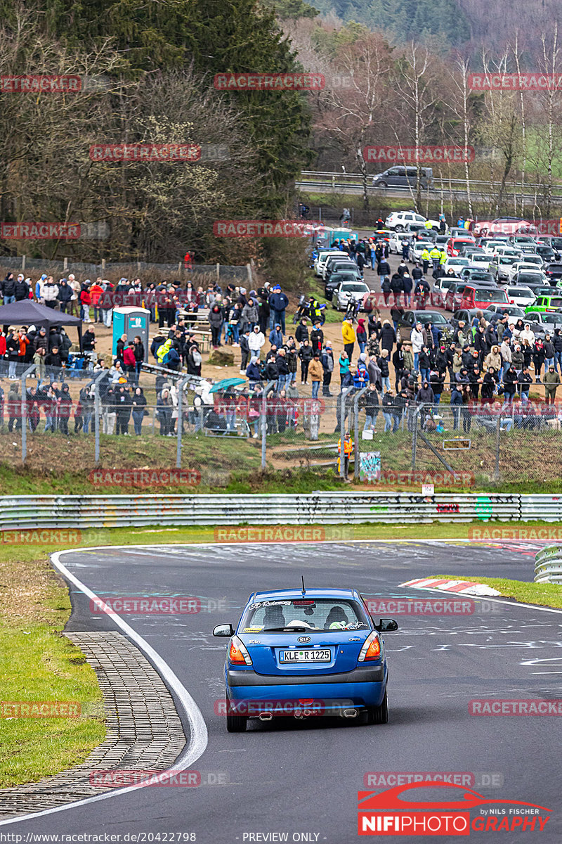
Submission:
<svg viewBox="0 0 562 844">
<path fill-rule="evenodd" d="M 106 738 L 80 765 L 39 782 L 0 789 L 0 820 L 92 797 L 115 786 L 90 785 L 93 771 L 165 771 L 185 733 L 163 680 L 136 646 L 116 632 L 67 633 L 98 675 Z"/>
</svg>

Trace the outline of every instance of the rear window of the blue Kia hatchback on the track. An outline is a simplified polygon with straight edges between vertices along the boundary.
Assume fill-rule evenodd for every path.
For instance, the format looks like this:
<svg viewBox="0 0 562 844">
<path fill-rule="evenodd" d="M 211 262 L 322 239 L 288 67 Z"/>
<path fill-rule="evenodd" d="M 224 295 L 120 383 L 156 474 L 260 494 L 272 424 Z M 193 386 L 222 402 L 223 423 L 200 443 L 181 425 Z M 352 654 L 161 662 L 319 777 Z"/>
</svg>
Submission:
<svg viewBox="0 0 562 844">
<path fill-rule="evenodd" d="M 287 625 L 307 627 L 316 632 L 356 630 L 369 626 L 366 614 L 355 601 L 305 596 L 250 603 L 240 622 L 240 629 L 244 633 L 257 633 Z"/>
</svg>

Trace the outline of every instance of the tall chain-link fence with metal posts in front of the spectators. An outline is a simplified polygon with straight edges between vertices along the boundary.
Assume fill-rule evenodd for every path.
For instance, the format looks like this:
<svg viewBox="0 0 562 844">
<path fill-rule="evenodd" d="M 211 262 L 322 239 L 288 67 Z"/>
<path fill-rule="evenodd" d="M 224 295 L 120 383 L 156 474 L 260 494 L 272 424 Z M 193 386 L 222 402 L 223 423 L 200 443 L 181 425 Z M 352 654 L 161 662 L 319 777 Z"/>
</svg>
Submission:
<svg viewBox="0 0 562 844">
<path fill-rule="evenodd" d="M 265 469 L 399 490 L 419 490 L 423 482 L 464 490 L 545 482 L 562 473 L 556 405 L 517 397 L 430 405 L 368 388 L 310 398 L 294 384 L 272 382 L 224 391 L 197 376 L 154 369 L 120 375 L 18 365 L 11 374 L 4 365 L 2 463 L 25 463 L 45 477 L 83 473 L 88 484 L 99 468 L 117 475 L 182 468 L 194 476 L 180 485 L 204 489 Z M 124 483 L 114 483 L 117 475 L 95 480 L 113 487 Z"/>
</svg>

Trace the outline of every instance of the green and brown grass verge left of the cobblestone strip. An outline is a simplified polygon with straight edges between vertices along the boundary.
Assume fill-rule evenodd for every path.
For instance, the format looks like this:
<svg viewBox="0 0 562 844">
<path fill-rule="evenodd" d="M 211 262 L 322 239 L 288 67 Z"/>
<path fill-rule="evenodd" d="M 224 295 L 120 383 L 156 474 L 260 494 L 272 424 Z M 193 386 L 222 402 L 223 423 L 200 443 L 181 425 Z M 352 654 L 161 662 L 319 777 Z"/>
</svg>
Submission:
<svg viewBox="0 0 562 844">
<path fill-rule="evenodd" d="M 71 610 L 67 588 L 47 549 L 38 550 L 0 549 L 0 787 L 75 765 L 105 738 L 94 669 L 61 634 Z M 83 714 L 6 717 L 5 704 L 16 701 L 78 701 Z"/>
</svg>

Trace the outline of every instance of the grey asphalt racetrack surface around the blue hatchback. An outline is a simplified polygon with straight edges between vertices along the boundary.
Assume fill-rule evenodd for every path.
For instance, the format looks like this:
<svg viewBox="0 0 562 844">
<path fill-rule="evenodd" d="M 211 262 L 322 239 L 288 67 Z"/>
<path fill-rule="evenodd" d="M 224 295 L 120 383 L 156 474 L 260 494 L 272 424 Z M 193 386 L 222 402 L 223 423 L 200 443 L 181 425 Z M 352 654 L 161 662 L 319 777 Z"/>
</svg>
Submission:
<svg viewBox="0 0 562 844">
<path fill-rule="evenodd" d="M 242 842 L 244 833 L 288 833 L 288 841 L 293 834 L 312 833 L 300 840 L 342 844 L 355 840 L 357 791 L 365 787 L 368 771 L 492 771 L 503 776 L 503 786 L 476 790 L 489 798 L 552 809 L 539 840 L 560 841 L 560 718 L 471 717 L 468 701 L 559 697 L 562 614 L 477 601 L 474 615 L 398 617 L 399 631 L 385 637 L 387 725 L 274 720 L 250 722 L 246 733 L 231 735 L 214 708 L 224 695 L 226 642 L 211 636 L 212 627 L 222 621 L 236 624 L 254 589 L 299 586 L 304 575 L 309 587 L 353 586 L 379 598 L 431 597 L 397 585 L 439 574 L 527 580 L 534 550 L 528 544 L 370 541 L 126 547 L 62 555 L 62 563 L 104 598 L 175 593 L 196 595 L 203 605 L 222 599 L 230 608 L 174 617 L 126 616 L 169 663 L 206 720 L 209 743 L 192 768 L 201 771 L 203 783 L 216 781 L 219 774 L 227 782 L 143 788 L 23 820 L 3 832 L 195 832 L 196 841 L 205 844 Z M 71 593 L 69 629 L 114 629 L 108 617 L 90 613 L 75 587 Z M 472 834 L 496 840 L 491 832 Z M 511 842 L 529 836 L 497 837 Z"/>
</svg>

